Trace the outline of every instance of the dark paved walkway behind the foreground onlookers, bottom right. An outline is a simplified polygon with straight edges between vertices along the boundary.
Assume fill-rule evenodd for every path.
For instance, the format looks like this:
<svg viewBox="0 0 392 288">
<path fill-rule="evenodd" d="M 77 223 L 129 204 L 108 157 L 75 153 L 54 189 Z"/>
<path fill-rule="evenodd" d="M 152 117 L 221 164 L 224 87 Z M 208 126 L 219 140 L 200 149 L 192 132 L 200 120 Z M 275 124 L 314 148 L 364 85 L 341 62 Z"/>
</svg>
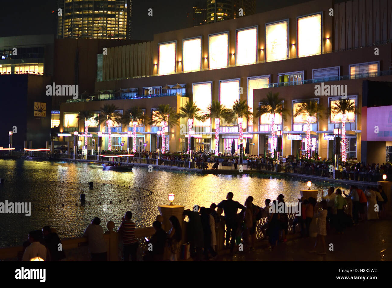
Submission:
<svg viewBox="0 0 392 288">
<path fill-rule="evenodd" d="M 216 261 L 392 261 L 392 220 L 366 221 L 347 228 L 345 234 L 331 234 L 325 239 L 327 255 L 310 254 L 315 238 L 295 238 L 268 248 L 268 241 L 258 242 L 255 251 L 224 250 Z M 256 244 L 257 245 L 257 244 Z"/>
</svg>

